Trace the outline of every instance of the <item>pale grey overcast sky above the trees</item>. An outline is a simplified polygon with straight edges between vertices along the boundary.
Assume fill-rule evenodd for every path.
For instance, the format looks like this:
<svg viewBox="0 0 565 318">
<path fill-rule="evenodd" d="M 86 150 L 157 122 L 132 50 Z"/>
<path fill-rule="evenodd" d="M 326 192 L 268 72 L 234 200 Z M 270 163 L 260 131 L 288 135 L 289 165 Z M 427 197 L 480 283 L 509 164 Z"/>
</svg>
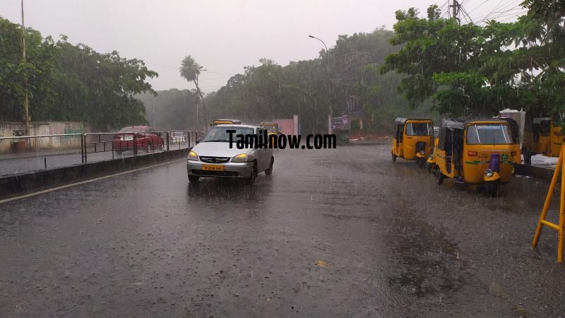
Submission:
<svg viewBox="0 0 565 318">
<path fill-rule="evenodd" d="M 425 13 L 427 0 L 24 0 L 25 25 L 45 37 L 60 34 L 98 52 L 117 50 L 122 57 L 143 59 L 159 77 L 156 90 L 192 88 L 179 76 L 180 61 L 191 54 L 208 71 L 204 91 L 218 90 L 244 66 L 262 57 L 286 65 L 312 59 L 338 35 L 391 29 L 394 12 L 415 6 Z M 473 20 L 512 19 L 520 0 L 463 0 Z M 20 0 L 0 0 L 0 16 L 21 23 Z M 446 7 L 444 5 L 444 7 Z M 445 11 L 445 10 L 444 10 Z M 506 13 L 506 16 L 503 16 Z"/>
</svg>

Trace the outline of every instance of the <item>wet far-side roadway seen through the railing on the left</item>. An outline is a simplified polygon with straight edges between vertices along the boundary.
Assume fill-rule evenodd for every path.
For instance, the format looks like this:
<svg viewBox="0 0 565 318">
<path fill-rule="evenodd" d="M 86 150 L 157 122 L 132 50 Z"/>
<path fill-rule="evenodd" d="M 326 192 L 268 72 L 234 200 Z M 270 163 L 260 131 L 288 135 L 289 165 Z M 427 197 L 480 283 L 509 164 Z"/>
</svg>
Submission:
<svg viewBox="0 0 565 318">
<path fill-rule="evenodd" d="M 175 143 L 170 145 L 170 150 L 189 148 L 187 143 Z M 91 152 L 92 151 L 92 152 Z M 159 152 L 160 149 L 155 149 L 154 152 Z M 140 150 L 138 155 L 143 155 L 147 152 Z M 124 151 L 121 155 L 112 151 L 100 151 L 94 153 L 89 150 L 87 153 L 87 161 L 93 163 L 96 161 L 110 160 L 113 158 L 124 158 L 133 156 L 133 151 Z M 54 167 L 67 167 L 69 165 L 78 165 L 82 163 L 81 149 L 73 149 L 72 151 L 59 151 L 57 152 L 37 152 L 37 153 L 0 153 L 0 176 L 13 175 L 22 172 L 32 172 L 36 170 L 44 170 Z"/>
</svg>

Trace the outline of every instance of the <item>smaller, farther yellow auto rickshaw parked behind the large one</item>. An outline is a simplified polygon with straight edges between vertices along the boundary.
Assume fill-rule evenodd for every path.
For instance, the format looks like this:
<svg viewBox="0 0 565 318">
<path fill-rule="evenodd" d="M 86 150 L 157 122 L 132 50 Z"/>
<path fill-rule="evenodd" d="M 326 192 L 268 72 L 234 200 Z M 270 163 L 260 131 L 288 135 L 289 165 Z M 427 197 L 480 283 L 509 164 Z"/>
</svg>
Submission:
<svg viewBox="0 0 565 318">
<path fill-rule="evenodd" d="M 434 148 L 434 122 L 432 119 L 407 119 L 395 120 L 396 131 L 393 137 L 392 158 L 416 160 L 420 167 L 424 167 L 428 156 Z"/>
</svg>

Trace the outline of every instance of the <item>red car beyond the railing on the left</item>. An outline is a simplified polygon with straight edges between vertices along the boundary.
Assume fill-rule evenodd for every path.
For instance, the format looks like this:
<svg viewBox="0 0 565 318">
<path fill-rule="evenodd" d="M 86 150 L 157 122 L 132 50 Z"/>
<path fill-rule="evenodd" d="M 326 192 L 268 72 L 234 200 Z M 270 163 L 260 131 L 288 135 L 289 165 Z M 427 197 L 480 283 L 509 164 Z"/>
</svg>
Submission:
<svg viewBox="0 0 565 318">
<path fill-rule="evenodd" d="M 135 149 L 136 145 L 138 151 L 165 151 L 165 142 L 160 135 L 160 132 L 150 126 L 124 127 L 114 135 L 112 150 L 121 154 L 123 151 Z"/>
</svg>

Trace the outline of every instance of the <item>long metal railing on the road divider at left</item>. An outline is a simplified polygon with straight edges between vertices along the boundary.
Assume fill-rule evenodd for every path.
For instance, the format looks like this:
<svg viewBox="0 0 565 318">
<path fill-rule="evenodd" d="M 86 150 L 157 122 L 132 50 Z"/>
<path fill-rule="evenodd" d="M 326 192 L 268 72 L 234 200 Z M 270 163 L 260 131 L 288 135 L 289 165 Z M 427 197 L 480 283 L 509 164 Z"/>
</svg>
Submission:
<svg viewBox="0 0 565 318">
<path fill-rule="evenodd" d="M 49 167 L 64 167 L 190 148 L 198 136 L 198 131 L 151 131 L 0 137 L 0 175 L 47 169 L 48 158 Z"/>
</svg>

